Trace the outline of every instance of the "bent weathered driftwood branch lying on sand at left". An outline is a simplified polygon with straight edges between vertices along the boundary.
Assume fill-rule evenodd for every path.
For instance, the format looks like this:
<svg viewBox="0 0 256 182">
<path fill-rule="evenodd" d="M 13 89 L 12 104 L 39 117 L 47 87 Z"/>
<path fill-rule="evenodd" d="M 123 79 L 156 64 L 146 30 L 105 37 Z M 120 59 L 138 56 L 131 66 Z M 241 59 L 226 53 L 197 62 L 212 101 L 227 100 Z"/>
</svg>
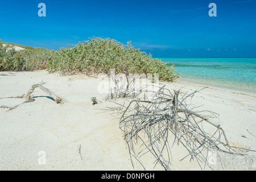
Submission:
<svg viewBox="0 0 256 182">
<path fill-rule="evenodd" d="M 40 88 L 41 90 L 43 90 L 44 92 L 46 92 L 49 96 L 51 96 L 53 98 L 53 100 L 55 100 L 55 102 L 57 104 L 64 104 L 65 102 L 68 102 L 67 100 L 65 100 L 64 98 L 58 96 L 57 94 L 53 93 L 51 90 L 49 90 L 48 88 L 46 88 L 45 86 L 43 86 L 42 84 L 35 84 L 32 85 L 31 88 L 28 90 L 27 94 L 23 94 L 22 96 L 16 96 L 16 97 L 0 97 L 0 99 L 5 99 L 5 98 L 25 98 L 26 101 L 22 102 L 21 104 L 15 105 L 15 106 L 0 106 L 0 108 L 8 108 L 10 110 L 16 109 L 16 107 L 28 103 L 28 102 L 34 102 L 35 99 L 34 97 L 31 97 L 31 94 L 34 92 L 35 88 Z"/>
</svg>

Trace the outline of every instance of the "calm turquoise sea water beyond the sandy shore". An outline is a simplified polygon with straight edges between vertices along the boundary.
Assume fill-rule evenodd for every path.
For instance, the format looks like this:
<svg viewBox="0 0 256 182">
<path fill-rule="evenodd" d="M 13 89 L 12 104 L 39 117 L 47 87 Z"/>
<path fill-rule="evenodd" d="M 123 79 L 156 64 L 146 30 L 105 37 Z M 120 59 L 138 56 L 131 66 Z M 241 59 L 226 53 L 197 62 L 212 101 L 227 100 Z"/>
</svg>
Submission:
<svg viewBox="0 0 256 182">
<path fill-rule="evenodd" d="M 256 91 L 256 58 L 171 58 L 180 78 Z"/>
</svg>

